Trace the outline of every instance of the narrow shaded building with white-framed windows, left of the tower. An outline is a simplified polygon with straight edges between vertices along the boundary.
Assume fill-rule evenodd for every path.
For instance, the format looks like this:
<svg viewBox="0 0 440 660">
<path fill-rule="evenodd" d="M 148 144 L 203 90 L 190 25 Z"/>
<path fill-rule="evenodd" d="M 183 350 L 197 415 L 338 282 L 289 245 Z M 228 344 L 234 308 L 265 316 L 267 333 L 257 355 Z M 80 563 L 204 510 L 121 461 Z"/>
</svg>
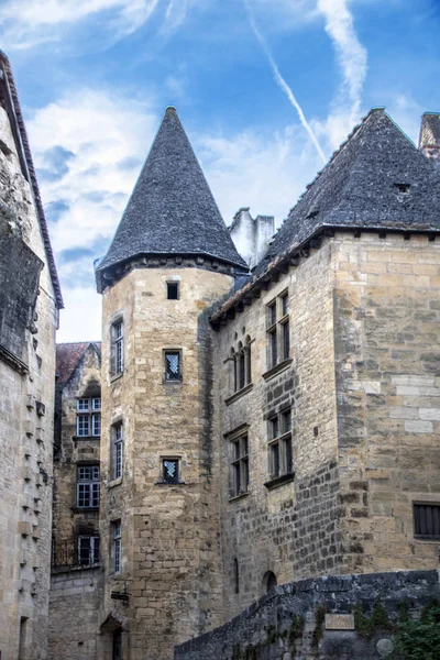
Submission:
<svg viewBox="0 0 440 660">
<path fill-rule="evenodd" d="M 57 344 L 48 660 L 97 657 L 100 435 L 101 345 Z"/>
</svg>

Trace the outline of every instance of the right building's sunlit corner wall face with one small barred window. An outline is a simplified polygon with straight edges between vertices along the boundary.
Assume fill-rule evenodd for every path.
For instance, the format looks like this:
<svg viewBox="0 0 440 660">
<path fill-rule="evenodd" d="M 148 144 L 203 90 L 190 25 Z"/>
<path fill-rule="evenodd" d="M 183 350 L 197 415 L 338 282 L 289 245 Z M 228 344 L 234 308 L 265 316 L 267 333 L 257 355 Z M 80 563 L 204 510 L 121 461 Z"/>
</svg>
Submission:
<svg viewBox="0 0 440 660">
<path fill-rule="evenodd" d="M 440 504 L 440 245 L 341 237 L 334 273 L 345 570 L 435 568 L 414 503 Z"/>
</svg>

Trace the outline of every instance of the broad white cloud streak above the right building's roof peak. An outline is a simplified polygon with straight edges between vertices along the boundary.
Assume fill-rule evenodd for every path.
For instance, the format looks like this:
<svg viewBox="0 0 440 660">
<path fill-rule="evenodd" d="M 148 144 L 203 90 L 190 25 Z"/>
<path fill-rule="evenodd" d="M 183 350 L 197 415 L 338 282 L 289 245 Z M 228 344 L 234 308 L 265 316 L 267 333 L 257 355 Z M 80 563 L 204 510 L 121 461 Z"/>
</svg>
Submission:
<svg viewBox="0 0 440 660">
<path fill-rule="evenodd" d="M 351 123 L 359 120 L 362 87 L 367 70 L 367 53 L 358 38 L 346 0 L 318 0 L 326 19 L 326 32 L 333 42 L 343 82 L 338 101 L 348 107 Z"/>
</svg>

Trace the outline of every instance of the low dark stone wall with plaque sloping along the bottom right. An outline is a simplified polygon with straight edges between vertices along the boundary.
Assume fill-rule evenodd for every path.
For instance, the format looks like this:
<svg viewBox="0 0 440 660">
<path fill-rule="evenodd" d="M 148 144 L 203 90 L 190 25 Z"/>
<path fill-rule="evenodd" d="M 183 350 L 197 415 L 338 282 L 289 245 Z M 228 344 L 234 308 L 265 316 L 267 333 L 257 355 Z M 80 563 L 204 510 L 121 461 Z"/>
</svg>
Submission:
<svg viewBox="0 0 440 660">
<path fill-rule="evenodd" d="M 394 657 L 394 631 L 440 597 L 438 571 L 302 580 L 277 586 L 242 614 L 176 647 L 175 660 L 373 660 Z M 372 620 L 372 629 L 366 625 Z M 366 634 L 369 632 L 369 635 Z"/>
</svg>

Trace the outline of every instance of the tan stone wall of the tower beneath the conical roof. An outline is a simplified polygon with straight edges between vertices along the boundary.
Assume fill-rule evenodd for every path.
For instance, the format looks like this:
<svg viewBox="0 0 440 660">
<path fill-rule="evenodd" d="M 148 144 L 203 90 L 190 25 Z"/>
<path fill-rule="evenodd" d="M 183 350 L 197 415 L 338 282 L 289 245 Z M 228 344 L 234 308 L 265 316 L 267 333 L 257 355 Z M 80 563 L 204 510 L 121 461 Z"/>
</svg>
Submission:
<svg viewBox="0 0 440 660">
<path fill-rule="evenodd" d="M 179 283 L 178 300 L 166 299 L 169 279 Z M 170 658 L 176 640 L 222 620 L 208 308 L 231 286 L 230 276 L 197 267 L 140 268 L 103 295 L 102 620 L 121 623 L 132 659 Z M 124 373 L 112 378 L 110 329 L 118 319 Z M 165 349 L 182 351 L 182 382 L 165 382 Z M 117 422 L 124 459 L 122 477 L 113 480 Z M 161 483 L 163 458 L 179 461 L 180 483 Z M 111 524 L 118 519 L 122 568 L 112 574 Z M 112 600 L 112 591 L 129 593 L 129 606 Z"/>
</svg>

